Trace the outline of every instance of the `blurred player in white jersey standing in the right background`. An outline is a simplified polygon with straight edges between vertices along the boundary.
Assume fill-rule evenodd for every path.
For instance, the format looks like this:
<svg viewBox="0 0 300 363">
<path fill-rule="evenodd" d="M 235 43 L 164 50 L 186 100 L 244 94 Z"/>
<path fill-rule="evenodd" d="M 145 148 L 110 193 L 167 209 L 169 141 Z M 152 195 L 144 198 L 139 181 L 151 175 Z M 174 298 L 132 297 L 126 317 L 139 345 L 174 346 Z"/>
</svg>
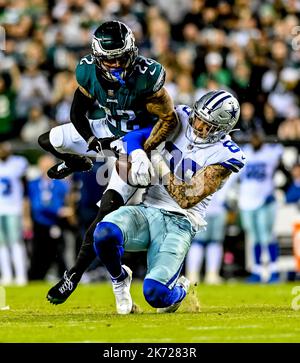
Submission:
<svg viewBox="0 0 300 363">
<path fill-rule="evenodd" d="M 264 143 L 261 132 L 253 132 L 250 144 L 243 147 L 247 166 L 239 176 L 238 205 L 241 222 L 253 250 L 254 264 L 248 282 L 262 282 L 261 255 L 269 254 L 269 283 L 279 281 L 277 259 L 278 241 L 273 234 L 276 203 L 274 173 L 279 165 L 283 146 Z"/>
</svg>

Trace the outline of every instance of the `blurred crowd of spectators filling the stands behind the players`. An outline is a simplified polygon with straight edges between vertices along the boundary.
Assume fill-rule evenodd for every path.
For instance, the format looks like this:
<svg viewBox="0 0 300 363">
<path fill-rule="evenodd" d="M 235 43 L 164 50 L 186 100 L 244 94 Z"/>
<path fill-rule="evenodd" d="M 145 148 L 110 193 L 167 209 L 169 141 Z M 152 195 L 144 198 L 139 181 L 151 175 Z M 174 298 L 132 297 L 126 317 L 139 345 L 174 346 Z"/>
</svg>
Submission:
<svg viewBox="0 0 300 363">
<path fill-rule="evenodd" d="M 54 161 L 42 155 L 38 136 L 69 122 L 76 64 L 90 53 L 93 31 L 116 19 L 133 30 L 140 54 L 164 65 L 165 86 L 175 104 L 192 105 L 216 88 L 236 94 L 241 117 L 235 140 L 248 142 L 255 129 L 264 132 L 267 142 L 284 145 L 281 170 L 275 175 L 278 195 L 283 196 L 291 183 L 300 184 L 299 15 L 299 0 L 0 0 L 1 35 L 5 33 L 0 50 L 0 142 L 9 141 L 10 153 L 25 157 L 27 179 L 45 175 Z M 97 118 L 97 109 L 90 116 Z M 62 202 L 53 220 L 41 221 L 32 201 L 31 211 L 24 214 L 26 263 L 32 279 L 49 274 L 48 268 L 30 263 L 34 232 L 43 233 L 34 230 L 34 222 L 46 223 L 52 229 L 50 237 L 59 241 L 58 250 L 67 250 L 45 252 L 51 256 L 48 267 L 55 260 L 56 274 L 61 275 L 75 258 L 80 235 L 103 191 L 92 173 L 60 183 L 65 184 L 58 193 Z M 91 184 L 93 194 L 88 193 Z M 28 199 L 30 187 L 25 189 Z M 297 198 L 292 201 L 295 205 L 300 195 Z M 285 198 L 279 199 L 284 208 Z M 224 253 L 223 261 L 229 277 L 242 275 L 246 268 L 243 231 L 232 200 L 225 238 L 225 247 L 230 241 L 229 254 Z M 292 228 L 282 235 L 291 254 Z M 64 258 L 58 259 L 59 255 Z M 135 261 L 142 274 L 142 264 L 138 258 Z"/>
</svg>

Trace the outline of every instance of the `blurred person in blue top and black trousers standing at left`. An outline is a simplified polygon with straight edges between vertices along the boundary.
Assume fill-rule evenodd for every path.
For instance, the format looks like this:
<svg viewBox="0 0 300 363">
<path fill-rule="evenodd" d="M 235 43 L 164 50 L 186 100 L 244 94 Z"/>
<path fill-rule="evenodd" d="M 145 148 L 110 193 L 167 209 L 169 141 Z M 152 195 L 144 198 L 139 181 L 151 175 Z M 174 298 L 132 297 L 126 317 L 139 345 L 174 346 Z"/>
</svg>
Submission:
<svg viewBox="0 0 300 363">
<path fill-rule="evenodd" d="M 69 192 L 68 181 L 54 180 L 47 176 L 49 167 L 55 164 L 50 155 L 38 160 L 40 176 L 28 183 L 28 198 L 33 222 L 33 239 L 30 256 L 30 280 L 43 280 L 53 263 L 58 274 L 66 269 L 63 259 L 64 237 L 62 220 L 73 215 L 66 206 Z"/>
</svg>

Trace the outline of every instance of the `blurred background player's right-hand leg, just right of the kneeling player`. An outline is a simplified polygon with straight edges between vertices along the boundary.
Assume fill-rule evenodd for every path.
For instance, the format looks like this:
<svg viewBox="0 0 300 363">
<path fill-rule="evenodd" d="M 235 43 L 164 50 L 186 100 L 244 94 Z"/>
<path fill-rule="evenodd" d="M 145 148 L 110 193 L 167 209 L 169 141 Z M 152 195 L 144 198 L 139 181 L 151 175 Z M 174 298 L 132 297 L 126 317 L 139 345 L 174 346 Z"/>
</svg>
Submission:
<svg viewBox="0 0 300 363">
<path fill-rule="evenodd" d="M 207 284 L 222 283 L 220 270 L 223 257 L 223 240 L 225 236 L 226 212 L 210 216 L 207 220 L 210 224 L 209 242 L 206 246 L 205 279 Z"/>
</svg>

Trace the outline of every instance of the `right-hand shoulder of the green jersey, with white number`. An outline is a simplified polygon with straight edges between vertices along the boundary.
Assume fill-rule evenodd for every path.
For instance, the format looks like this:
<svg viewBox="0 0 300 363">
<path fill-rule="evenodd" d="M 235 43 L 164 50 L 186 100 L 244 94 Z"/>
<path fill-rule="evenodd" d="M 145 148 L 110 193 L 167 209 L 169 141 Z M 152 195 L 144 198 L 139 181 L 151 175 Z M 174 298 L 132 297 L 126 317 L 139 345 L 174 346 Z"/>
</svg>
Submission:
<svg viewBox="0 0 300 363">
<path fill-rule="evenodd" d="M 141 92 L 155 93 L 163 87 L 166 71 L 156 60 L 138 56 L 132 76 L 137 80 Z"/>
</svg>

